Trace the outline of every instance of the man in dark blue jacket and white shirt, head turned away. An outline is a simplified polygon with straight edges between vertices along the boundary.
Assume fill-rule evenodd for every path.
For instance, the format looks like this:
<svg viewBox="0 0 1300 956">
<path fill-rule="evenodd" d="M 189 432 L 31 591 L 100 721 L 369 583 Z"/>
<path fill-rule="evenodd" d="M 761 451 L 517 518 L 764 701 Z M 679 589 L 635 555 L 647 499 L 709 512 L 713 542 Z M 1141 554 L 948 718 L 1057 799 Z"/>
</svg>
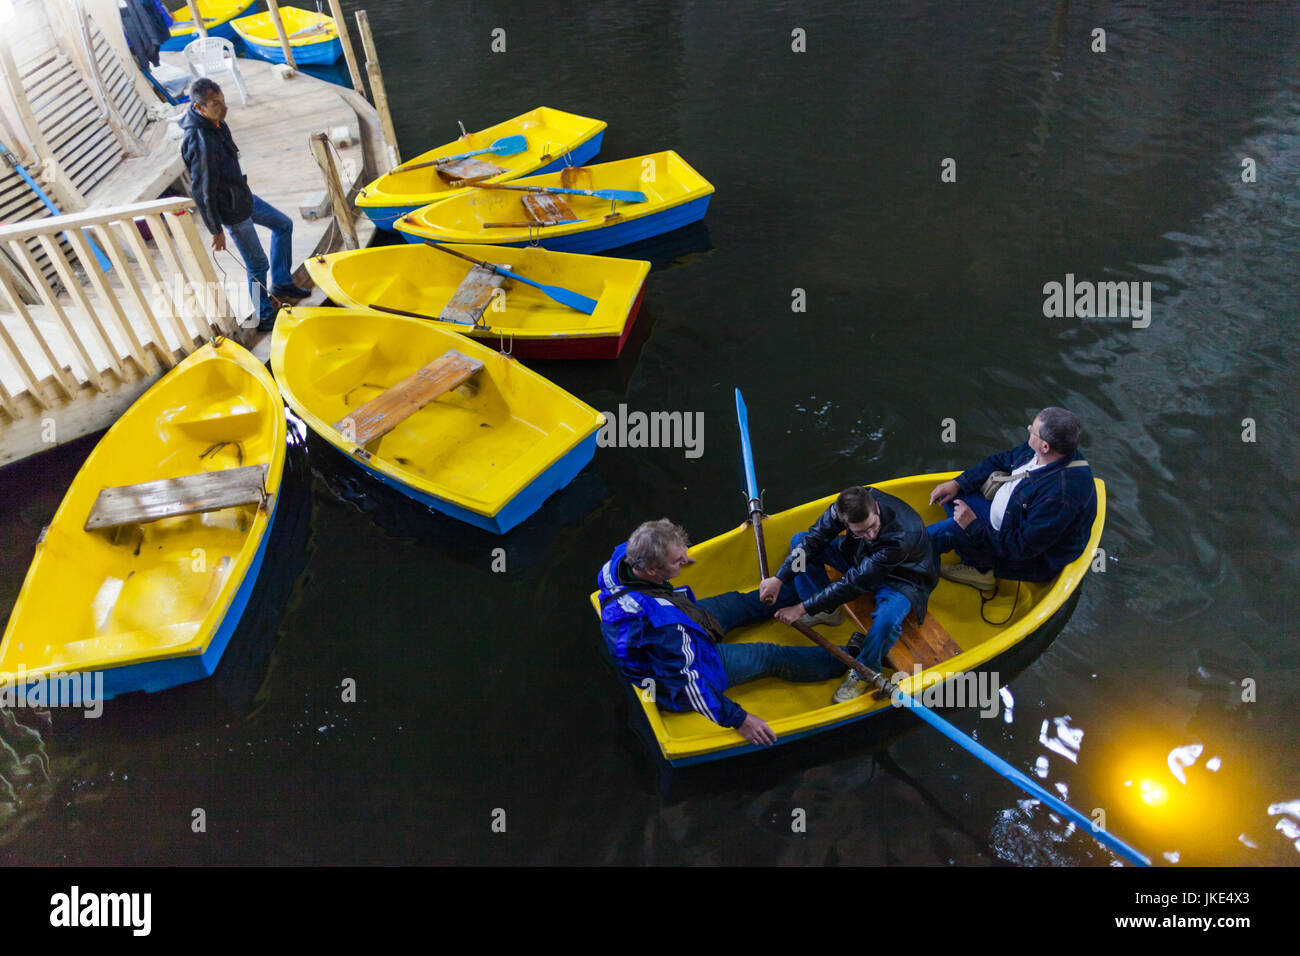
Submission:
<svg viewBox="0 0 1300 956">
<path fill-rule="evenodd" d="M 941 566 L 941 576 L 982 591 L 998 578 L 1049 581 L 1083 554 L 1097 518 L 1097 489 L 1079 450 L 1080 432 L 1074 412 L 1044 408 L 1023 445 L 935 486 L 930 503 L 952 516 L 926 531 L 936 557 L 956 549 L 961 558 Z M 996 471 L 1006 477 L 985 498 L 982 489 Z"/>
</svg>

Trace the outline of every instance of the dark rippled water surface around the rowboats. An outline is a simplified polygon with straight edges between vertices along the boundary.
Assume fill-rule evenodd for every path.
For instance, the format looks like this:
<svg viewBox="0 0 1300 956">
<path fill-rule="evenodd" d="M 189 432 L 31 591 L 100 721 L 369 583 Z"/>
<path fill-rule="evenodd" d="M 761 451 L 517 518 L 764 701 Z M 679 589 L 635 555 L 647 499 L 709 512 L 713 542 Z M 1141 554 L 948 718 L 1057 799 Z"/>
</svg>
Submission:
<svg viewBox="0 0 1300 956">
<path fill-rule="evenodd" d="M 278 643 L 240 652 L 260 685 L 20 713 L 32 732 L 6 714 L 5 858 L 1108 864 L 928 730 L 660 793 L 586 594 L 646 518 L 697 540 L 744 518 L 740 385 L 772 510 L 966 467 L 1037 408 L 1078 411 L 1108 571 L 1006 719 L 954 721 L 1157 864 L 1297 861 L 1296 8 L 824 7 L 369 4 L 406 156 L 551 105 L 608 121 L 602 160 L 675 148 L 715 183 L 705 228 L 656 254 L 633 355 L 538 364 L 598 408 L 703 412 L 705 454 L 602 449 L 498 541 L 309 442 L 309 550 L 281 554 Z M 1149 326 L 1044 317 L 1067 273 L 1149 281 Z M 0 607 L 87 450 L 4 473 Z"/>
</svg>

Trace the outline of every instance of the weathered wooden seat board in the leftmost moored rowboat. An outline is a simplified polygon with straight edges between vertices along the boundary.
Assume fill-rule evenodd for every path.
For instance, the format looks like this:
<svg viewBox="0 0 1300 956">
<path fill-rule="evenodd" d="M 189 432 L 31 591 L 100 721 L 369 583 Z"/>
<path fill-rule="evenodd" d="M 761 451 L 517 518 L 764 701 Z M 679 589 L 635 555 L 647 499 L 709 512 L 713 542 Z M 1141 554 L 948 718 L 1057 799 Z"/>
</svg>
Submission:
<svg viewBox="0 0 1300 956">
<path fill-rule="evenodd" d="M 177 479 L 105 488 L 86 519 L 86 531 L 156 522 L 235 505 L 260 505 L 266 484 L 265 464 L 204 471 Z"/>
</svg>

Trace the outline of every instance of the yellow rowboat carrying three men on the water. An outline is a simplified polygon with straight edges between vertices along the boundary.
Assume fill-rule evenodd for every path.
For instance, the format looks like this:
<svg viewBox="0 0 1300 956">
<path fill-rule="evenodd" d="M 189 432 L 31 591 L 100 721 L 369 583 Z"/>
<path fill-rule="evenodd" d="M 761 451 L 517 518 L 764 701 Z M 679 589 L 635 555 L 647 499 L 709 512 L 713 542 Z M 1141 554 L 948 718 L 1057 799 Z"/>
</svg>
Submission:
<svg viewBox="0 0 1300 956">
<path fill-rule="evenodd" d="M 881 492 L 902 498 L 930 524 L 946 518 L 944 510 L 930 505 L 930 492 L 940 481 L 957 477 L 946 475 L 916 475 L 875 484 Z M 1008 672 L 1031 645 L 1054 636 L 1069 619 L 1078 600 L 1079 585 L 1088 574 L 1093 553 L 1101 541 L 1106 515 L 1105 484 L 1096 480 L 1097 518 L 1083 554 L 1067 564 L 1052 581 L 1043 584 L 1002 581 L 998 596 L 987 605 L 984 615 L 1006 623 L 989 624 L 980 615 L 980 597 L 974 588 L 940 580 L 930 597 L 930 613 L 924 627 L 918 628 L 911 618 L 902 637 L 889 653 L 887 676 L 896 676 L 898 685 L 922 702 L 927 693 L 932 698 L 939 691 L 923 693 L 939 682 L 952 680 L 966 685 L 976 671 Z M 780 567 L 789 551 L 790 538 L 807 531 L 818 516 L 835 501 L 836 496 L 801 505 L 800 507 L 770 515 L 763 522 L 767 544 L 767 562 Z M 694 545 L 689 554 L 697 563 L 682 568 L 673 584 L 690 585 L 697 598 L 711 597 L 728 591 L 753 591 L 758 587 L 758 555 L 754 553 L 754 532 L 746 523 L 733 531 Z M 948 555 L 945 561 L 952 561 Z M 832 572 L 833 574 L 833 572 Z M 1013 611 L 1014 604 L 1014 611 Z M 592 594 L 592 606 L 599 615 L 598 593 Z M 863 623 L 871 620 L 871 598 L 854 601 L 854 610 Z M 845 645 L 857 630 L 849 615 L 840 627 L 819 627 L 818 631 L 837 645 Z M 945 633 L 946 632 L 946 633 Z M 1035 640 L 1039 639 L 1039 640 Z M 811 646 L 794 628 L 768 620 L 728 635 L 734 641 L 768 641 L 792 646 Z M 1039 648 L 1041 649 L 1041 648 Z M 1019 652 L 1019 653 L 1018 653 Z M 919 669 L 919 670 L 914 670 Z M 902 671 L 898 674 L 897 671 Z M 835 727 L 870 721 L 872 731 L 888 736 L 904 728 L 904 713 L 888 698 L 878 700 L 867 693 L 845 704 L 832 704 L 831 696 L 840 679 L 814 684 L 792 684 L 776 678 L 764 678 L 727 691 L 727 696 L 746 711 L 758 715 L 771 726 L 777 744 L 820 734 Z M 628 684 L 633 700 L 645 715 L 650 732 L 659 745 L 663 758 L 675 766 L 733 757 L 757 748 L 734 730 L 720 727 L 698 713 L 660 710 L 647 701 L 642 688 Z M 966 696 L 971 704 L 975 693 Z"/>
</svg>

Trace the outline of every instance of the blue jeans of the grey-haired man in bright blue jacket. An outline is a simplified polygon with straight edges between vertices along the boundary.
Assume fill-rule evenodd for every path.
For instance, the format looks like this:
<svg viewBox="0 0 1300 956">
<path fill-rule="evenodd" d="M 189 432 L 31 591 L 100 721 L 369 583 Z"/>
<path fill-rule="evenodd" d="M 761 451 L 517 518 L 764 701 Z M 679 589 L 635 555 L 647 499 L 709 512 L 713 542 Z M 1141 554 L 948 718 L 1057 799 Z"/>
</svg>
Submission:
<svg viewBox="0 0 1300 956">
<path fill-rule="evenodd" d="M 725 594 L 702 598 L 698 604 L 718 618 L 718 623 L 723 626 L 723 631 L 729 633 L 732 628 L 767 620 L 777 609 L 797 604 L 797 598 L 794 589 L 785 585 L 781 588 L 775 605 L 766 605 L 759 601 L 757 591 L 744 594 L 731 591 Z M 829 680 L 844 674 L 842 663 L 822 648 L 812 645 L 806 648 L 788 648 L 783 644 L 767 643 L 720 643 L 716 648 L 718 657 L 723 662 L 723 670 L 727 672 L 727 687 L 746 684 L 759 678 L 780 678 L 781 680 L 805 684 Z"/>
</svg>

